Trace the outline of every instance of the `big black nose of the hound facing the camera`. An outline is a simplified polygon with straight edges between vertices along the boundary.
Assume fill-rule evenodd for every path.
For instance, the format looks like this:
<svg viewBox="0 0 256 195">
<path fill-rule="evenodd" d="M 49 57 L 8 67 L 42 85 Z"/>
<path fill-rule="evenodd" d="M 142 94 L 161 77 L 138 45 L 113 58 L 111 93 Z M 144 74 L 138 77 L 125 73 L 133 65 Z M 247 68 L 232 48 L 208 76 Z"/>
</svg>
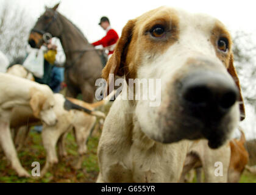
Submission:
<svg viewBox="0 0 256 195">
<path fill-rule="evenodd" d="M 235 83 L 221 73 L 198 71 L 182 81 L 183 102 L 195 116 L 222 116 L 238 98 Z"/>
</svg>

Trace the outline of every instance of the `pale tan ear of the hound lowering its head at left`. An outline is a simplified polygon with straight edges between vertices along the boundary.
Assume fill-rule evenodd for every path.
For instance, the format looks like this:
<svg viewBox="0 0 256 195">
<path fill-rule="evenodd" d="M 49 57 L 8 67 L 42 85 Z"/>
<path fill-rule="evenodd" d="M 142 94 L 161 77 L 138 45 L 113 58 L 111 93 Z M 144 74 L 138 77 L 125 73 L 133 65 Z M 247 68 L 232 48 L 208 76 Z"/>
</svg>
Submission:
<svg viewBox="0 0 256 195">
<path fill-rule="evenodd" d="M 32 108 L 34 116 L 39 118 L 39 114 L 43 108 L 46 98 L 41 91 L 36 89 L 30 91 L 30 97 L 29 105 Z"/>
</svg>

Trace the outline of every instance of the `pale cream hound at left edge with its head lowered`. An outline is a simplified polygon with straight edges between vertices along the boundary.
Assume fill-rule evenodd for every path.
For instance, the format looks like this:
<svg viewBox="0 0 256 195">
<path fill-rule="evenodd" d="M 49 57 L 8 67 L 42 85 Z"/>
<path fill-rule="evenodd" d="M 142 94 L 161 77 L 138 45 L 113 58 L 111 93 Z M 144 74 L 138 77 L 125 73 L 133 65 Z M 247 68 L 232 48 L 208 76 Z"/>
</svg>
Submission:
<svg viewBox="0 0 256 195">
<path fill-rule="evenodd" d="M 48 126 L 57 122 L 54 113 L 55 99 L 47 85 L 41 85 L 27 79 L 0 73 L 0 144 L 18 176 L 29 177 L 29 173 L 21 166 L 10 134 L 10 123 L 17 110 L 23 110 L 34 118 L 40 119 Z M 21 125 L 27 120 L 19 118 Z"/>
</svg>

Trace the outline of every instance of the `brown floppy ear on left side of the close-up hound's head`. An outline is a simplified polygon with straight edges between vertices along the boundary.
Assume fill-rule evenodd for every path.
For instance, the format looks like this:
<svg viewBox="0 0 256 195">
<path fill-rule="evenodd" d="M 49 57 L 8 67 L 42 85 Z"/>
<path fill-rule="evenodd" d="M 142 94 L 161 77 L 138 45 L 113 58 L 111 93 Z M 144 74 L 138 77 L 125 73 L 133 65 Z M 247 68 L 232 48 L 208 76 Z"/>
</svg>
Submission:
<svg viewBox="0 0 256 195">
<path fill-rule="evenodd" d="M 135 19 L 129 20 L 126 26 L 124 26 L 121 37 L 116 44 L 114 53 L 108 60 L 105 68 L 102 70 L 102 78 L 107 80 L 107 89 L 110 83 L 114 82 L 114 78 L 109 77 L 110 74 L 113 74 L 114 76 L 124 76 L 126 48 L 129 46 L 130 40 L 132 39 L 134 26 Z M 111 91 L 109 91 L 109 93 L 111 93 Z M 105 93 L 105 96 L 107 96 L 107 93 Z"/>
</svg>

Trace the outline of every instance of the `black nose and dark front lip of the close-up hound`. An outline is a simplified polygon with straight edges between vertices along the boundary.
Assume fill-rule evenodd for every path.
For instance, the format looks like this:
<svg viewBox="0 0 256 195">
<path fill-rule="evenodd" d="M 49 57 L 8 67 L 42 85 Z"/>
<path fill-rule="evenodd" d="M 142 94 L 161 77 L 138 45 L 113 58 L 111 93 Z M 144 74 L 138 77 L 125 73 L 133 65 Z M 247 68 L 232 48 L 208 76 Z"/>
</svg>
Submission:
<svg viewBox="0 0 256 195">
<path fill-rule="evenodd" d="M 222 73 L 194 71 L 182 80 L 180 91 L 186 112 L 204 126 L 201 133 L 208 145 L 221 146 L 226 132 L 219 126 L 239 99 L 235 82 Z"/>
</svg>

